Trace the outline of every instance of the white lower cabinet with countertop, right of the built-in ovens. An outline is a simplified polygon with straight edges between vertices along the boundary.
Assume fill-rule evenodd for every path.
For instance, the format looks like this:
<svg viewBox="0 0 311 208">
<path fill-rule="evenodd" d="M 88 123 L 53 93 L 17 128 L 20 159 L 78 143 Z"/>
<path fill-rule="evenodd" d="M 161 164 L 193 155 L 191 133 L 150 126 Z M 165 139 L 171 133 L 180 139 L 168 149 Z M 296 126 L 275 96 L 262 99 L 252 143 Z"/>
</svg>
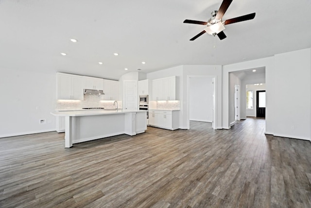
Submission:
<svg viewBox="0 0 311 208">
<path fill-rule="evenodd" d="M 179 129 L 179 111 L 149 110 L 149 125 L 162 129 Z"/>
</svg>

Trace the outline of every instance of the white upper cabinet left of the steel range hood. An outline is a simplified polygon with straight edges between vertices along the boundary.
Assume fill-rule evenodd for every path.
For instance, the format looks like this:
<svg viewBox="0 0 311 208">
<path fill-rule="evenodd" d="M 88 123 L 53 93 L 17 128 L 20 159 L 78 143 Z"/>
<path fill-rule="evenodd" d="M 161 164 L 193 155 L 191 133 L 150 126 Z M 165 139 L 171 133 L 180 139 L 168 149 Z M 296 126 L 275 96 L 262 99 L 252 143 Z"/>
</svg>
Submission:
<svg viewBox="0 0 311 208">
<path fill-rule="evenodd" d="M 56 74 L 56 98 L 83 100 L 83 76 Z"/>
</svg>

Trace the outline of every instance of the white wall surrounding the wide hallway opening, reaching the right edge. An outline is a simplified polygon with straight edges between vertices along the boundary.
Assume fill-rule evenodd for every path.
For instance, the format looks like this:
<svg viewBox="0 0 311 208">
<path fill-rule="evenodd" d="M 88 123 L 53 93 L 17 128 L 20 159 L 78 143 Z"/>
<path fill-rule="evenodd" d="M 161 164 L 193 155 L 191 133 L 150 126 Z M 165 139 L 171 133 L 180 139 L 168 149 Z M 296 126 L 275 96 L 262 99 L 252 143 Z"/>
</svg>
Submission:
<svg viewBox="0 0 311 208">
<path fill-rule="evenodd" d="M 229 126 L 229 72 L 259 67 L 266 69 L 265 132 L 309 140 L 311 135 L 310 48 L 223 66 L 224 128 Z M 305 96 L 301 96 L 302 92 Z"/>
</svg>

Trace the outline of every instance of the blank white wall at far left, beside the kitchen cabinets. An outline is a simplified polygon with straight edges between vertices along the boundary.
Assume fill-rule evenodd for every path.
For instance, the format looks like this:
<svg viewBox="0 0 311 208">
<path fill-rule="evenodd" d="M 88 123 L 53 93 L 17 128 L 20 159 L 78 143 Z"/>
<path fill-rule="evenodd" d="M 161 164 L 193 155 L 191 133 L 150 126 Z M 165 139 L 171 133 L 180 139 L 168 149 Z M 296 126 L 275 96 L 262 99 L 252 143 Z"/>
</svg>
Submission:
<svg viewBox="0 0 311 208">
<path fill-rule="evenodd" d="M 56 74 L 0 70 L 0 137 L 55 131 Z"/>
</svg>

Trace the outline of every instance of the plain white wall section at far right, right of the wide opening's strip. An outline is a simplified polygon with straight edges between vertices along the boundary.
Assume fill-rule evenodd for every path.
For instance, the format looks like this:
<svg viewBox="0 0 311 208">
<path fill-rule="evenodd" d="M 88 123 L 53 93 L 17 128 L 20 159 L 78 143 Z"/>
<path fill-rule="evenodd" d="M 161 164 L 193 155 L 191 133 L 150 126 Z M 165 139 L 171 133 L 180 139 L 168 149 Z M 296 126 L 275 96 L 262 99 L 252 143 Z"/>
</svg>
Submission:
<svg viewBox="0 0 311 208">
<path fill-rule="evenodd" d="M 275 55 L 274 135 L 310 139 L 311 49 Z"/>
</svg>

